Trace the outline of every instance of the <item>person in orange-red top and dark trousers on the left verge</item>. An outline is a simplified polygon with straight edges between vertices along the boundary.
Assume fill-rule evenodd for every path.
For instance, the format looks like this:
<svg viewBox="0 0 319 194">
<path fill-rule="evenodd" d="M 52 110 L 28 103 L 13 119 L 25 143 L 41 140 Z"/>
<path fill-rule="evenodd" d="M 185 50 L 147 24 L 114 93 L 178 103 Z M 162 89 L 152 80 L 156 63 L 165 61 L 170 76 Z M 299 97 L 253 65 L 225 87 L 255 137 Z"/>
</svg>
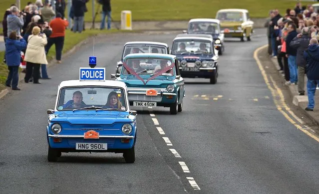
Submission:
<svg viewBox="0 0 319 194">
<path fill-rule="evenodd" d="M 50 47 L 55 44 L 55 58 L 58 63 L 61 63 L 65 28 L 69 24 L 66 19 L 62 19 L 61 17 L 61 13 L 56 13 L 55 18 L 50 21 L 49 25 L 52 28 L 52 34 L 50 35 L 46 45 L 46 53 L 48 53 Z"/>
</svg>

